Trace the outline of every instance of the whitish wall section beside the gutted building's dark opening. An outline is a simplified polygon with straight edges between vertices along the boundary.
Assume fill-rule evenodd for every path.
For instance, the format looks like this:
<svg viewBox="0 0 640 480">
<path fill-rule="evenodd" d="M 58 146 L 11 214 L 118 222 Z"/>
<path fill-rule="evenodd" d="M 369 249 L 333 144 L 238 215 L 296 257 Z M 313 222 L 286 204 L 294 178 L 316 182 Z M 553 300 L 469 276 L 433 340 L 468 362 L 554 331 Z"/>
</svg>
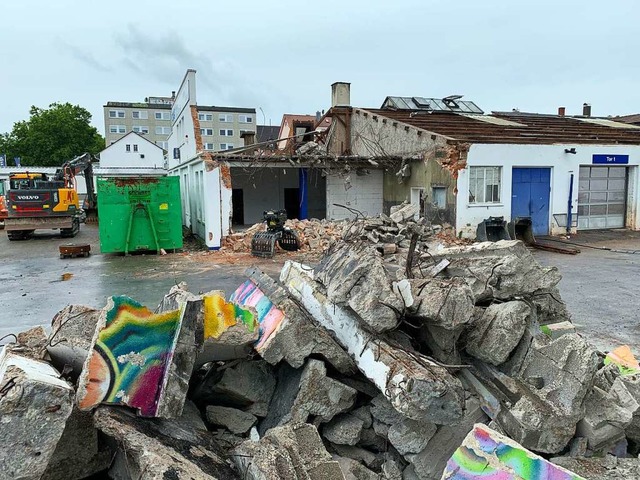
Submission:
<svg viewBox="0 0 640 480">
<path fill-rule="evenodd" d="M 368 175 L 327 176 L 327 219 L 344 220 L 355 218 L 349 210 L 334 204 L 345 205 L 362 212 L 365 216 L 382 213 L 382 170 L 370 170 Z"/>
</svg>

